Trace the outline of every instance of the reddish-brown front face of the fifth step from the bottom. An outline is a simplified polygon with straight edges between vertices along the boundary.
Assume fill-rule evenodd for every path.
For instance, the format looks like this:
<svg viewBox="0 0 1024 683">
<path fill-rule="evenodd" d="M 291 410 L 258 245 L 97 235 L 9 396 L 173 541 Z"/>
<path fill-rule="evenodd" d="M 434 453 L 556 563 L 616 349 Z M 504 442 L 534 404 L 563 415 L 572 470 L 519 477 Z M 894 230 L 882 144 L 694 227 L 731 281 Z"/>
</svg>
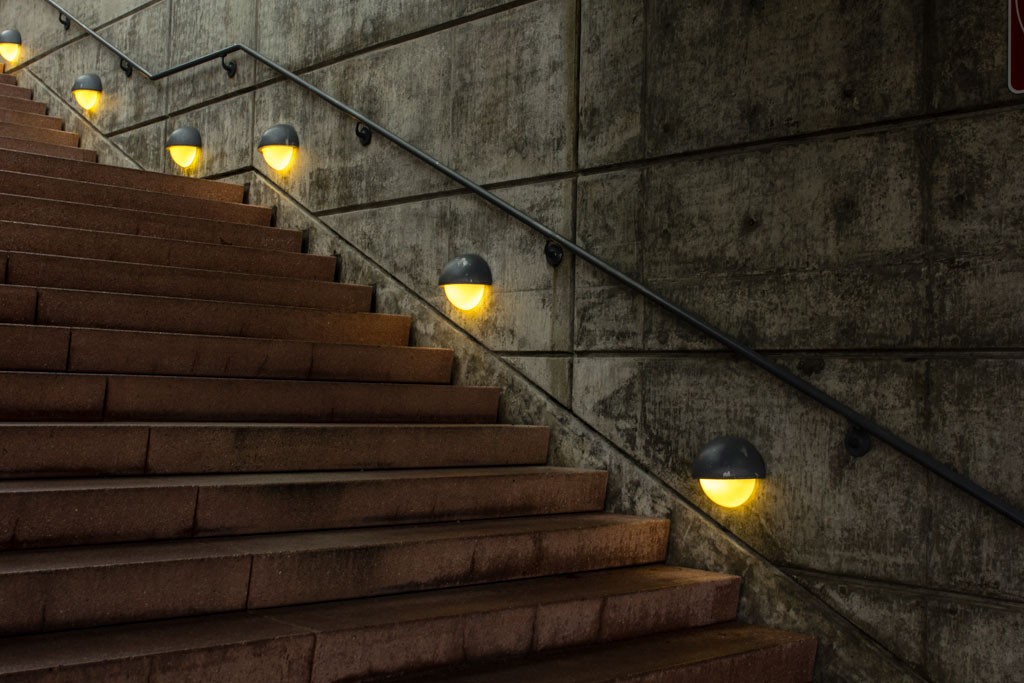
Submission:
<svg viewBox="0 0 1024 683">
<path fill-rule="evenodd" d="M 0 478 L 543 465 L 550 429 L 430 424 L 0 424 Z"/>
</svg>

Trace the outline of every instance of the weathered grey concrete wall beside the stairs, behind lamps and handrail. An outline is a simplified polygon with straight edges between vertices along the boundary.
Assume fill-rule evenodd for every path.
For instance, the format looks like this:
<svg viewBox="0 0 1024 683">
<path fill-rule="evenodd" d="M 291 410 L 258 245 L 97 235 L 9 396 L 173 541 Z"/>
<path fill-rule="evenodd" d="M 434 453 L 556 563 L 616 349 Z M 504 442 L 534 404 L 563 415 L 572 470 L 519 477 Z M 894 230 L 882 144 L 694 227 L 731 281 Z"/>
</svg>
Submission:
<svg viewBox="0 0 1024 683">
<path fill-rule="evenodd" d="M 230 42 L 300 70 L 1024 507 L 1024 111 L 1005 3 L 67 4 L 151 70 Z M 0 0 L 0 25 L 55 104 L 101 75 L 102 109 L 69 126 L 105 136 L 104 160 L 176 172 L 163 139 L 200 128 L 197 174 L 251 182 L 343 278 L 380 286 L 382 309 L 415 309 L 462 379 L 509 386 L 507 417 L 557 426 L 554 462 L 608 467 L 613 508 L 671 514 L 673 559 L 743 573 L 749 617 L 821 635 L 820 680 L 1018 676 L 1020 528 L 885 447 L 851 460 L 836 416 L 590 266 L 549 267 L 526 228 L 383 140 L 362 147 L 250 59 L 151 84 L 42 0 Z M 303 144 L 286 174 L 254 150 L 279 122 Z M 497 285 L 461 314 L 435 283 L 472 251 Z M 687 476 L 724 433 L 770 474 L 735 512 Z"/>
</svg>

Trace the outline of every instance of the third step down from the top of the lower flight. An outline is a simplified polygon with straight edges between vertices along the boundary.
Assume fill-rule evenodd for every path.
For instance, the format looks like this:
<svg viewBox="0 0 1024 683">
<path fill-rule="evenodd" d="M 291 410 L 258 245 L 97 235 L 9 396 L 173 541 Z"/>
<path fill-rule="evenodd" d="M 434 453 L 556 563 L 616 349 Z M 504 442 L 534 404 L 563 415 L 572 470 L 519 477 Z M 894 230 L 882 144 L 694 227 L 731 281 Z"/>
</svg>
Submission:
<svg viewBox="0 0 1024 683">
<path fill-rule="evenodd" d="M 298 230 L 58 202 L 2 190 L 0 187 L 0 220 L 256 249 L 302 250 L 302 233 Z"/>
</svg>

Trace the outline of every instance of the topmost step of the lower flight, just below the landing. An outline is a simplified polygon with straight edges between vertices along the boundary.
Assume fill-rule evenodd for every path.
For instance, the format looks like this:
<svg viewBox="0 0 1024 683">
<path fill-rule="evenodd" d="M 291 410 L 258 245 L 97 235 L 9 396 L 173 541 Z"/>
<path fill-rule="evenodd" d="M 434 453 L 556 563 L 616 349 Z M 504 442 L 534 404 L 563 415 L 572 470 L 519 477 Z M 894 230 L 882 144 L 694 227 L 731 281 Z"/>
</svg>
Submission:
<svg viewBox="0 0 1024 683">
<path fill-rule="evenodd" d="M 24 100 L 19 100 L 24 101 Z M 41 102 L 32 102 L 41 103 Z M 44 105 L 45 108 L 45 105 Z M 0 102 L 3 109 L 3 102 Z M 245 187 L 231 182 L 200 180 L 166 173 L 140 171 L 120 166 L 87 164 L 85 162 L 54 161 L 48 157 L 29 153 L 10 153 L 0 157 L 0 169 L 32 175 L 45 175 L 69 180 L 82 180 L 102 185 L 123 185 L 133 189 L 165 193 L 218 202 L 241 203 Z"/>
</svg>

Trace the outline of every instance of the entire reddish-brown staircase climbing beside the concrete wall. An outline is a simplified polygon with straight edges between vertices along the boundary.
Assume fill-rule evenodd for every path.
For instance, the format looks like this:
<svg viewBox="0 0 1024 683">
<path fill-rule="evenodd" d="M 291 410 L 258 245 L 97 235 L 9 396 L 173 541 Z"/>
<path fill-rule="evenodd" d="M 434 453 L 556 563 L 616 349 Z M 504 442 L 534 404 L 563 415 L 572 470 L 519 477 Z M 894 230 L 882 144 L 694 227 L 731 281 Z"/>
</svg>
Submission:
<svg viewBox="0 0 1024 683">
<path fill-rule="evenodd" d="M 808 681 L 239 186 L 0 75 L 0 680 Z"/>
</svg>

